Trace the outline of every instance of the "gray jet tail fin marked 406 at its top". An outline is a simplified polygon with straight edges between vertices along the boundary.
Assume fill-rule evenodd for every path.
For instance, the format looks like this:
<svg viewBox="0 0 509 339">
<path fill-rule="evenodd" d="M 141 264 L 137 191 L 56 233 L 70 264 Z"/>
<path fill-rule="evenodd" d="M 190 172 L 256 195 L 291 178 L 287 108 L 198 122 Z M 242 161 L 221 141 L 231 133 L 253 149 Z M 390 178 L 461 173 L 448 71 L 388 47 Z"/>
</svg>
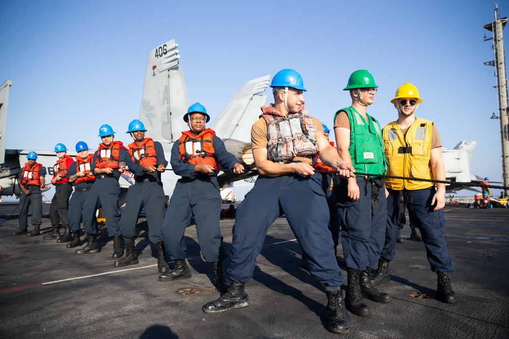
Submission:
<svg viewBox="0 0 509 339">
<path fill-rule="evenodd" d="M 147 137 L 171 143 L 187 129 L 183 120 L 189 106 L 179 45 L 170 40 L 149 52 L 139 119 Z"/>
</svg>

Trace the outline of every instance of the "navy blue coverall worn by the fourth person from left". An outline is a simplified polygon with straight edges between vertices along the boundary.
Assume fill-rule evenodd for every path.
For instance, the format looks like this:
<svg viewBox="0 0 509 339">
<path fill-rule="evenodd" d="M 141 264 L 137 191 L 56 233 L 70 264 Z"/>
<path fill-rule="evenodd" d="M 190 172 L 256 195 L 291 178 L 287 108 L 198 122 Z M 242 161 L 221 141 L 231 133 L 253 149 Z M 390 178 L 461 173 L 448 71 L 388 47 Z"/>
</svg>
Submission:
<svg viewBox="0 0 509 339">
<path fill-rule="evenodd" d="M 120 148 L 119 159 L 125 157 L 127 151 Z M 97 151 L 94 153 L 91 171 L 96 168 Z M 92 189 L 83 204 L 83 228 L 88 234 L 97 234 L 97 224 L 94 223 L 95 212 L 99 206 L 104 210 L 106 228 L 109 236 L 121 235 L 119 227 L 119 196 L 121 173 L 114 170 L 110 174 L 97 174 Z"/>
</svg>

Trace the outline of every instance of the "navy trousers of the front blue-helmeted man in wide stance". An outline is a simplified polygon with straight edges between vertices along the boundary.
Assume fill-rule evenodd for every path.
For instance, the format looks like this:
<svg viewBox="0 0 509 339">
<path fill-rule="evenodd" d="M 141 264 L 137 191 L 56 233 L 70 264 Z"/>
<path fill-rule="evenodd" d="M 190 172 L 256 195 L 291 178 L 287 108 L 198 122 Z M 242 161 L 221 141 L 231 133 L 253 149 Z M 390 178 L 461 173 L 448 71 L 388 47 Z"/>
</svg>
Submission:
<svg viewBox="0 0 509 339">
<path fill-rule="evenodd" d="M 256 258 L 270 225 L 285 213 L 306 259 L 310 274 L 327 291 L 343 285 L 343 275 L 334 256 L 334 244 L 327 223 L 329 208 L 322 189 L 322 175 L 301 177 L 285 174 L 258 176 L 254 187 L 237 208 L 230 254 L 230 279 L 251 280 Z"/>
</svg>

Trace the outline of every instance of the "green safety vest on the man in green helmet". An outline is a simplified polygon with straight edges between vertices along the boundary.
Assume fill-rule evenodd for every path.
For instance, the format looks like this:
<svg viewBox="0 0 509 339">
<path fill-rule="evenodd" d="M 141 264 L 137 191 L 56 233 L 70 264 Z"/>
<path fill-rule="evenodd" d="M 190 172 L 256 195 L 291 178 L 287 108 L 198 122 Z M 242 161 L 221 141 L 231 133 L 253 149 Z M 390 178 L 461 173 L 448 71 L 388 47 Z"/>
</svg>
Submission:
<svg viewBox="0 0 509 339">
<path fill-rule="evenodd" d="M 387 160 L 383 152 L 383 140 L 380 124 L 377 119 L 366 114 L 366 121 L 352 106 L 340 109 L 336 115 L 344 111 L 350 120 L 350 157 L 357 172 L 371 174 L 385 174 Z"/>
</svg>

